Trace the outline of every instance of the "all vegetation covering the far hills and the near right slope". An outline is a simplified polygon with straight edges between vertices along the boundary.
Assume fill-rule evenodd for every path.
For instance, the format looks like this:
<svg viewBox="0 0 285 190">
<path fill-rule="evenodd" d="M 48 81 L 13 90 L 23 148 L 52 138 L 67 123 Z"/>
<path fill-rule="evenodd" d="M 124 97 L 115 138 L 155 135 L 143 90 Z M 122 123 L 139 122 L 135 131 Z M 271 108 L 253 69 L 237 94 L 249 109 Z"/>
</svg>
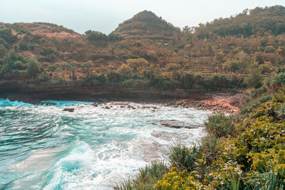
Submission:
<svg viewBox="0 0 285 190">
<path fill-rule="evenodd" d="M 284 189 L 285 8 L 180 31 L 150 11 L 113 33 L 0 23 L 0 79 L 53 85 L 252 88 L 239 115 L 209 117 L 209 135 L 176 144 L 117 189 Z"/>
</svg>

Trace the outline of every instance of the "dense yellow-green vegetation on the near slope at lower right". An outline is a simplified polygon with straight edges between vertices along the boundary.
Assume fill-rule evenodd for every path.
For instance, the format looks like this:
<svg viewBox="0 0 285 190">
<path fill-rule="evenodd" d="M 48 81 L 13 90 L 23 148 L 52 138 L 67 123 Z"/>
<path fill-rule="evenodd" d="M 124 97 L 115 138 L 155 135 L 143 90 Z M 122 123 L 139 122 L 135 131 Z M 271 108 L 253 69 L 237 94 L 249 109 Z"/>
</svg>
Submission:
<svg viewBox="0 0 285 190">
<path fill-rule="evenodd" d="M 167 162 L 149 164 L 115 189 L 284 189 L 284 78 L 266 78 L 244 95 L 239 114 L 210 115 L 199 144 L 175 144 Z"/>
</svg>

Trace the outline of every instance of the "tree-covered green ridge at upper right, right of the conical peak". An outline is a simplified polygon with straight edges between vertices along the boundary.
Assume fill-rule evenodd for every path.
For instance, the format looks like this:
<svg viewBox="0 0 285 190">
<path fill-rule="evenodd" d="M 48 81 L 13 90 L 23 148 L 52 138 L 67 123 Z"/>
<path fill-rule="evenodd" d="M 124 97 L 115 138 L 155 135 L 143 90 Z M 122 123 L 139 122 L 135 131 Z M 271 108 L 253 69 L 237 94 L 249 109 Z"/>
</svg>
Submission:
<svg viewBox="0 0 285 190">
<path fill-rule="evenodd" d="M 271 6 L 249 10 L 226 19 L 214 19 L 210 23 L 200 24 L 195 34 L 199 38 L 217 36 L 244 36 L 271 33 L 278 35 L 285 32 L 285 7 Z"/>
</svg>

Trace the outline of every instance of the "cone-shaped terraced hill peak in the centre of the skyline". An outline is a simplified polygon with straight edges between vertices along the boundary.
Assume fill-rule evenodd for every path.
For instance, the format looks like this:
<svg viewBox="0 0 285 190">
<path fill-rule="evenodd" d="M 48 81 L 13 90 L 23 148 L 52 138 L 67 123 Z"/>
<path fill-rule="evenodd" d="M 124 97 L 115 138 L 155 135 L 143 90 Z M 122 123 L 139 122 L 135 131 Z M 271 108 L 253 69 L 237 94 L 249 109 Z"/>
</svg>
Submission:
<svg viewBox="0 0 285 190">
<path fill-rule="evenodd" d="M 180 33 L 180 28 L 167 23 L 151 11 L 142 11 L 132 19 L 120 23 L 113 33 L 125 38 L 170 39 Z"/>
</svg>

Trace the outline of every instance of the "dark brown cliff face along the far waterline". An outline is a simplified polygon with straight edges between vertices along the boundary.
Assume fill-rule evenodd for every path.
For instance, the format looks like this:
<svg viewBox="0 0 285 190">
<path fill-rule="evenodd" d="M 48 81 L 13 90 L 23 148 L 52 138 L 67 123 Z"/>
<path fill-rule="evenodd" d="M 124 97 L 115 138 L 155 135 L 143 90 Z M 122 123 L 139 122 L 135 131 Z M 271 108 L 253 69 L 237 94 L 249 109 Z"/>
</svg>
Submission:
<svg viewBox="0 0 285 190">
<path fill-rule="evenodd" d="M 201 90 L 163 90 L 159 88 L 126 88 L 114 86 L 55 86 L 31 81 L 0 81 L 0 97 L 10 100 L 38 103 L 41 100 L 93 100 L 95 98 L 117 100 L 157 101 L 169 98 L 200 99 Z"/>
</svg>

